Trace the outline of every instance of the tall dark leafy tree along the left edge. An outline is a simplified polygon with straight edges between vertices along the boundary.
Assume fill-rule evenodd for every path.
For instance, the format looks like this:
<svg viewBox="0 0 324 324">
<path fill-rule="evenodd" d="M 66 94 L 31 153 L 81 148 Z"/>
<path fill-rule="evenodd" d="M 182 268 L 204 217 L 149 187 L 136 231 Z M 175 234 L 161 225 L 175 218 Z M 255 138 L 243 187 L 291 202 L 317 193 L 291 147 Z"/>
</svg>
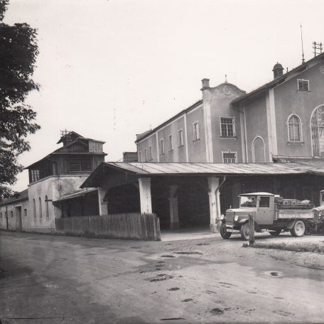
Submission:
<svg viewBox="0 0 324 324">
<path fill-rule="evenodd" d="M 28 134 L 40 126 L 33 123 L 36 112 L 24 103 L 38 85 L 31 76 L 38 55 L 37 31 L 27 23 L 3 23 L 9 0 L 0 0 L 0 200 L 13 194 L 9 185 L 23 170 L 18 156 L 28 151 Z"/>
</svg>

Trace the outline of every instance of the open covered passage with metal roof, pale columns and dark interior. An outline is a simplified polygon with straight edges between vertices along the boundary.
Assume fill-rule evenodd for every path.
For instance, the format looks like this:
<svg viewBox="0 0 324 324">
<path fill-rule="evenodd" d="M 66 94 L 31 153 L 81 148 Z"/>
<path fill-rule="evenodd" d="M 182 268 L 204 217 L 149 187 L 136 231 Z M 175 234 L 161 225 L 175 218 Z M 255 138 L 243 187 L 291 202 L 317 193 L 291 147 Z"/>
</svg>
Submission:
<svg viewBox="0 0 324 324">
<path fill-rule="evenodd" d="M 162 229 L 210 226 L 217 232 L 220 215 L 236 207 L 239 193 L 283 195 L 287 179 L 313 181 L 318 175 L 310 173 L 300 163 L 104 162 L 81 188 L 99 187 L 109 214 L 153 212 Z"/>
</svg>

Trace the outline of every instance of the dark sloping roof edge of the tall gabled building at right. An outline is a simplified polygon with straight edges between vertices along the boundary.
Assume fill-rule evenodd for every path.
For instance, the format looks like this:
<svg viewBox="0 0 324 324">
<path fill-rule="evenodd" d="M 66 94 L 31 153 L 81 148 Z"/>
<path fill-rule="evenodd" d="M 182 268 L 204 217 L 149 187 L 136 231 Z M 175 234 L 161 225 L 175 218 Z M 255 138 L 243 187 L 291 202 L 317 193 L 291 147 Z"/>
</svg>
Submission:
<svg viewBox="0 0 324 324">
<path fill-rule="evenodd" d="M 236 105 L 245 99 L 249 99 L 250 97 L 260 95 L 265 90 L 267 90 L 271 87 L 274 87 L 275 85 L 279 85 L 281 82 L 284 82 L 289 75 L 292 75 L 293 73 L 296 73 L 296 72 L 303 72 L 303 70 L 305 70 L 307 68 L 309 63 L 311 63 L 315 60 L 322 59 L 323 57 L 324 57 L 324 53 L 321 53 L 321 54 L 315 56 L 315 58 L 311 58 L 311 60 L 308 60 L 307 62 L 302 63 L 301 65 L 298 65 L 296 68 L 293 68 L 293 70 L 290 70 L 290 71 L 284 73 L 280 77 L 277 77 L 276 79 L 274 79 L 270 82 L 266 82 L 264 85 L 261 85 L 261 87 L 257 87 L 257 89 L 252 90 L 251 92 L 248 92 L 247 94 L 237 97 L 236 99 L 232 100 L 231 104 Z"/>
</svg>

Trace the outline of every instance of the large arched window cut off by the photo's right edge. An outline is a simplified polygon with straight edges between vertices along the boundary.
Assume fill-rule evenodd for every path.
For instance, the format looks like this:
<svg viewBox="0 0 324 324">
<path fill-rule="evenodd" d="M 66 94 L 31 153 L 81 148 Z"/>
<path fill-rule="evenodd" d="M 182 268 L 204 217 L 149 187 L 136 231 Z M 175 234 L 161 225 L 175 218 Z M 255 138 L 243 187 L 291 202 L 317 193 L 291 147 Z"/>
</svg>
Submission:
<svg viewBox="0 0 324 324">
<path fill-rule="evenodd" d="M 313 156 L 324 156 L 324 106 L 316 107 L 311 116 Z"/>
</svg>

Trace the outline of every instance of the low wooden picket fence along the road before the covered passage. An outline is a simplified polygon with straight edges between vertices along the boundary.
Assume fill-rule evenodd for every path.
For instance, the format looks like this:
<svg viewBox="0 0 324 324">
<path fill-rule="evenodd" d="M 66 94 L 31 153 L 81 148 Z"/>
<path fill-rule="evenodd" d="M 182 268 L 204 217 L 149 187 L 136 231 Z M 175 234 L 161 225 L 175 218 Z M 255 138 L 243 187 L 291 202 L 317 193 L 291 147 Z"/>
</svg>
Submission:
<svg viewBox="0 0 324 324">
<path fill-rule="evenodd" d="M 160 220 L 154 214 L 117 214 L 55 218 L 55 231 L 112 239 L 160 241 Z"/>
</svg>

